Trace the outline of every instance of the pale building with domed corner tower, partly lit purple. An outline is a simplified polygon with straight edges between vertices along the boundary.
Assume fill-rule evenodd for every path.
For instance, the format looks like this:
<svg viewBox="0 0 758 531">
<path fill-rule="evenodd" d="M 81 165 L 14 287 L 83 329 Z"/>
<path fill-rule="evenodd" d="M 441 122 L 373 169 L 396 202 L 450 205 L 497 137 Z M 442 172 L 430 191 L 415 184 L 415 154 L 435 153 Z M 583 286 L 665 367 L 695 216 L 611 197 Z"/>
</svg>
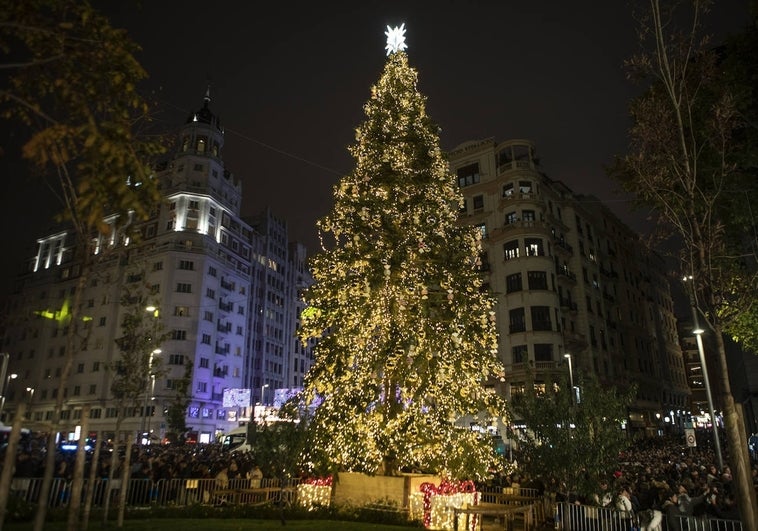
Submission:
<svg viewBox="0 0 758 531">
<path fill-rule="evenodd" d="M 288 327 L 296 325 L 298 302 L 292 297 L 300 288 L 289 286 L 294 281 L 289 271 L 303 272 L 305 251 L 293 266 L 285 222 L 270 212 L 254 224 L 241 217 L 242 183 L 225 167 L 223 147 L 224 130 L 206 93 L 202 107 L 180 128 L 177 149 L 156 166 L 164 202 L 140 227 L 141 240 L 119 239 L 115 229 L 111 237 L 99 237 L 96 252 L 102 259 L 83 288 L 72 235 L 61 229 L 38 240 L 29 271 L 18 279 L 10 308 L 14 319 L 2 347 L 9 354 L 8 374 L 17 375 L 6 385 L 5 418 L 20 401 L 27 403 L 30 422 L 44 425 L 53 418 L 69 332 L 66 315 L 78 289 L 84 290 L 88 330 L 62 390 L 61 431 L 75 431 L 88 405 L 90 430 L 112 430 L 122 416 L 123 429 L 158 440 L 168 430 L 167 408 L 191 366 L 186 422 L 198 442 L 210 442 L 251 417 L 255 403 L 263 401 L 262 385 L 273 396 L 294 382 L 284 360 L 294 355 L 295 331 Z M 113 401 L 111 369 L 121 355 L 115 340 L 127 311 L 123 295 L 138 285 L 148 292 L 148 318 L 160 322 L 166 339 L 151 353 L 160 370 L 145 382 L 144 400 L 122 411 Z M 298 375 L 303 369 L 298 363 Z"/>
</svg>

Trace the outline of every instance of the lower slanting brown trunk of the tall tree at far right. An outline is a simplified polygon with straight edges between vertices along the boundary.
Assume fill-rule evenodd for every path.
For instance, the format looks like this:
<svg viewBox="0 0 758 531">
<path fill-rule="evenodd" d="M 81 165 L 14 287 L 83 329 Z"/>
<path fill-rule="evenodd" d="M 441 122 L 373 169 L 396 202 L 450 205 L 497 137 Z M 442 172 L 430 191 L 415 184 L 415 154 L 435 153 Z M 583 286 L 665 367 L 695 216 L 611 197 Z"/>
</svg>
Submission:
<svg viewBox="0 0 758 531">
<path fill-rule="evenodd" d="M 731 385 L 729 384 L 729 370 L 726 364 L 726 350 L 721 328 L 714 326 L 713 331 L 716 336 L 719 367 L 721 369 L 719 376 L 723 390 L 724 426 L 729 445 L 729 464 L 732 468 L 732 481 L 737 496 L 737 506 L 740 509 L 740 519 L 744 531 L 758 531 L 758 508 L 756 508 L 755 488 L 750 473 L 750 461 L 747 459 L 747 439 L 740 437 L 744 428 L 740 429 L 740 418 L 737 415 Z M 715 422 L 715 419 L 713 421 Z"/>
</svg>

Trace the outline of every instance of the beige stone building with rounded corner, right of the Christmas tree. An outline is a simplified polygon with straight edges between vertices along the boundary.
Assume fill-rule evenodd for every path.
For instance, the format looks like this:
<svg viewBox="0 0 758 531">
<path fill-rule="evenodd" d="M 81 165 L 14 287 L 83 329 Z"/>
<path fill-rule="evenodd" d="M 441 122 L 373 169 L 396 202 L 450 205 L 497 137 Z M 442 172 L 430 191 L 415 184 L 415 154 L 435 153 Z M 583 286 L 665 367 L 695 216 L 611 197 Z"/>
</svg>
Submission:
<svg viewBox="0 0 758 531">
<path fill-rule="evenodd" d="M 600 201 L 541 172 L 529 141 L 471 141 L 449 156 L 465 198 L 461 222 L 483 237 L 506 398 L 529 372 L 540 385 L 571 370 L 636 383 L 630 428 L 655 429 L 664 412 L 684 409 L 663 260 Z"/>
</svg>

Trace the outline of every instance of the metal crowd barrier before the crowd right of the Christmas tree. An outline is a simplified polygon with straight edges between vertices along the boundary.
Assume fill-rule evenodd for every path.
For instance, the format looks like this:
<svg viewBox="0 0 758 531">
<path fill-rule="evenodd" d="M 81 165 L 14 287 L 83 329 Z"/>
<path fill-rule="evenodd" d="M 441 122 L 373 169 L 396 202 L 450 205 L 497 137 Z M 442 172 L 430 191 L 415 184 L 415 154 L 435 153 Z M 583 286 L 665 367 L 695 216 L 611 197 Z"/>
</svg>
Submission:
<svg viewBox="0 0 758 531">
<path fill-rule="evenodd" d="M 619 511 L 591 505 L 576 505 L 561 502 L 555 505 L 555 528 L 562 531 L 663 531 L 667 529 L 665 515 L 660 524 L 653 528 L 645 525 L 627 511 Z M 739 520 L 719 518 L 678 517 L 679 525 L 667 531 L 742 531 Z"/>
</svg>

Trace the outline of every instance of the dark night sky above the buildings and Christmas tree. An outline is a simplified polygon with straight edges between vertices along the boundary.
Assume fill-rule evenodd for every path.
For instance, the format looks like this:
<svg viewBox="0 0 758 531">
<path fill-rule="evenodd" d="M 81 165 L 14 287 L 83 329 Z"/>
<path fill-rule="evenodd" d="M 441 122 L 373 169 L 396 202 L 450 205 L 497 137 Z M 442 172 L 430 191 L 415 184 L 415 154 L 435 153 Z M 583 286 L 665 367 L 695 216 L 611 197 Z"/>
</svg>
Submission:
<svg viewBox="0 0 758 531">
<path fill-rule="evenodd" d="M 709 16 L 719 37 L 747 23 L 746 0 L 717 1 Z M 351 171 L 347 146 L 385 62 L 386 26 L 406 25 L 407 53 L 419 71 L 443 149 L 474 139 L 525 138 L 542 169 L 575 192 L 592 194 L 632 227 L 603 170 L 626 148 L 627 106 L 637 88 L 623 61 L 637 49 L 626 0 L 248 2 L 98 1 L 143 51 L 163 112 L 175 130 L 202 106 L 226 131 L 226 167 L 243 183 L 243 215 L 270 207 L 291 240 L 316 250 L 315 221 L 333 204 L 332 187 Z M 12 162 L 14 129 L 0 123 L 3 293 L 23 269 L 56 207 Z M 16 148 L 17 149 L 17 148 Z M 28 208 L 26 199 L 38 200 Z M 25 209 L 11 208 L 24 205 Z"/>
</svg>

